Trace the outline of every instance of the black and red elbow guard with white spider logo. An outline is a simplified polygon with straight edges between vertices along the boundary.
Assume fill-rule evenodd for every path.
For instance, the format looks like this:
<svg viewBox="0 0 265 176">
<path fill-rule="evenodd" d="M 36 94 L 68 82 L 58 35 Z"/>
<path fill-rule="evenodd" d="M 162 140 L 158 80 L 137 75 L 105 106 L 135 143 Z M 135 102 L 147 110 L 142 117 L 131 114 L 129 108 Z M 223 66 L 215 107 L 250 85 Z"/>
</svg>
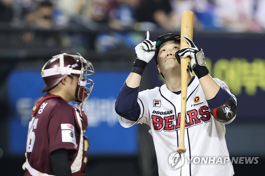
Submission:
<svg viewBox="0 0 265 176">
<path fill-rule="evenodd" d="M 232 120 L 237 111 L 236 101 L 232 96 L 222 106 L 212 109 L 214 118 L 219 122 L 227 122 Z"/>
</svg>

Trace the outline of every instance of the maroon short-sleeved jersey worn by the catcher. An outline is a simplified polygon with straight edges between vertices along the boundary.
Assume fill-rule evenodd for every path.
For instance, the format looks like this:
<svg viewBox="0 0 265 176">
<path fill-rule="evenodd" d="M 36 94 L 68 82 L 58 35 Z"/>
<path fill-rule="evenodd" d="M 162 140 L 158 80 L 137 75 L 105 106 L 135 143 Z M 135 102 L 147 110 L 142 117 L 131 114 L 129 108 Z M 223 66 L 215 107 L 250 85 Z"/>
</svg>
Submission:
<svg viewBox="0 0 265 176">
<path fill-rule="evenodd" d="M 57 149 L 67 149 L 72 151 L 74 159 L 80 142 L 75 109 L 59 96 L 50 97 L 34 108 L 36 115 L 32 115 L 29 122 L 26 144 L 28 163 L 39 172 L 54 175 L 50 153 Z M 25 176 L 30 176 L 27 169 Z"/>
</svg>

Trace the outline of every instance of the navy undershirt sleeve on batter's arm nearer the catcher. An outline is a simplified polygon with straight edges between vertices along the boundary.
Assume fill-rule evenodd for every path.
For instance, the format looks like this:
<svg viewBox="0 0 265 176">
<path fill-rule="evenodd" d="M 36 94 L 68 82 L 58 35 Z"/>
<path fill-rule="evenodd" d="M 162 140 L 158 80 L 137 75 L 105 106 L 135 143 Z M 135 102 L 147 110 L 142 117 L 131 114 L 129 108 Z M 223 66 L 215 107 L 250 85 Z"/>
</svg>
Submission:
<svg viewBox="0 0 265 176">
<path fill-rule="evenodd" d="M 140 106 L 137 103 L 139 88 L 128 87 L 124 82 L 115 102 L 116 113 L 134 122 L 138 120 L 141 113 Z"/>
</svg>

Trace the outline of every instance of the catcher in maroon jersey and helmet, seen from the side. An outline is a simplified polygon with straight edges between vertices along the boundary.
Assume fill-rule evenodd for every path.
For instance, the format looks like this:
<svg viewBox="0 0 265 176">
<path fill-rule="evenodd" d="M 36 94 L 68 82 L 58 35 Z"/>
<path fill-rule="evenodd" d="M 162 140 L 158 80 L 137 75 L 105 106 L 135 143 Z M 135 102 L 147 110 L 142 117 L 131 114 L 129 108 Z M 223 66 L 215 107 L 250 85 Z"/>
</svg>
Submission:
<svg viewBox="0 0 265 176">
<path fill-rule="evenodd" d="M 25 176 L 85 175 L 89 141 L 83 135 L 87 117 L 82 105 L 94 86 L 88 78 L 93 74 L 93 65 L 80 54 L 59 54 L 43 66 L 41 92 L 47 94 L 32 109 L 22 166 Z"/>
</svg>

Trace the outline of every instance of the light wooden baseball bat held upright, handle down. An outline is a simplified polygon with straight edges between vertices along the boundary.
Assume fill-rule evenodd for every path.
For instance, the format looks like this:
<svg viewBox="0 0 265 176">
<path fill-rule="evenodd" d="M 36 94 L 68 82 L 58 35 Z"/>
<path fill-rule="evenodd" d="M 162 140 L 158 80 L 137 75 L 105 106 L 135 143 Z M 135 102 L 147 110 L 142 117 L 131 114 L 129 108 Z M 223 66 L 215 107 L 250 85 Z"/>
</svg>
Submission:
<svg viewBox="0 0 265 176">
<path fill-rule="evenodd" d="M 180 49 L 189 47 L 189 44 L 184 40 L 183 36 L 192 40 L 193 37 L 193 13 L 192 11 L 184 11 L 181 15 L 181 28 L 180 28 Z M 181 58 L 181 111 L 180 111 L 180 136 L 179 146 L 177 152 L 185 153 L 184 146 L 184 131 L 185 131 L 185 117 L 186 117 L 186 104 L 187 104 L 187 88 L 188 88 L 188 75 L 191 58 Z"/>
</svg>

